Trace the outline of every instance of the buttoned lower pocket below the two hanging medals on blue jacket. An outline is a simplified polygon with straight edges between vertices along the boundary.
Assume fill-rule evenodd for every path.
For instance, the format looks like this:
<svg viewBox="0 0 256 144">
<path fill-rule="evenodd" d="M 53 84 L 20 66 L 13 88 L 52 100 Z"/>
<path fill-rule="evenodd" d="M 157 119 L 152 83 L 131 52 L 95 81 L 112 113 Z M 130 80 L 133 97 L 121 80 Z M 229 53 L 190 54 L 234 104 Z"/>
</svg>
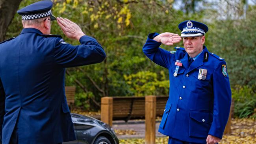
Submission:
<svg viewBox="0 0 256 144">
<path fill-rule="evenodd" d="M 189 137 L 206 138 L 213 120 L 213 113 L 190 110 Z"/>
</svg>

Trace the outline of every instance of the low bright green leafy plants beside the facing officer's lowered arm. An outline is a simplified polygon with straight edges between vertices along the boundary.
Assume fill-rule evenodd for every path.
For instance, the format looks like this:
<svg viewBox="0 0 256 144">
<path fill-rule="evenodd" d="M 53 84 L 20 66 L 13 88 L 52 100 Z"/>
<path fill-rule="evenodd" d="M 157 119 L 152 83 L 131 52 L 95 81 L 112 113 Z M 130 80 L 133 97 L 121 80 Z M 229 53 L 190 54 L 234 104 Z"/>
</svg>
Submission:
<svg viewBox="0 0 256 144">
<path fill-rule="evenodd" d="M 234 114 L 239 118 L 256 118 L 256 89 L 249 86 L 237 86 L 232 89 L 235 100 Z"/>
</svg>

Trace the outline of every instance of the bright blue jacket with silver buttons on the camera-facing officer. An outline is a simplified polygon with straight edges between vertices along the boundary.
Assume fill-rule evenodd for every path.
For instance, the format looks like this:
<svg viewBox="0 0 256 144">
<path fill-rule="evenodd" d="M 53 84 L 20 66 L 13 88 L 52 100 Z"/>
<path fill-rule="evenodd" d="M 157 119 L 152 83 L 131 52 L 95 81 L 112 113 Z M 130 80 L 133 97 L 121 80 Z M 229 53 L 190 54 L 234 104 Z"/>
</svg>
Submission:
<svg viewBox="0 0 256 144">
<path fill-rule="evenodd" d="M 148 35 L 143 52 L 154 63 L 168 68 L 169 99 L 160 123 L 159 132 L 187 142 L 206 143 L 208 135 L 222 138 L 231 105 L 231 89 L 224 59 L 203 52 L 189 66 L 189 55 L 184 48 L 176 52 L 159 48 L 154 41 L 158 33 Z M 204 54 L 209 54 L 204 61 Z M 176 60 L 182 66 L 175 77 Z M 200 69 L 206 69 L 205 79 L 198 79 Z"/>
</svg>

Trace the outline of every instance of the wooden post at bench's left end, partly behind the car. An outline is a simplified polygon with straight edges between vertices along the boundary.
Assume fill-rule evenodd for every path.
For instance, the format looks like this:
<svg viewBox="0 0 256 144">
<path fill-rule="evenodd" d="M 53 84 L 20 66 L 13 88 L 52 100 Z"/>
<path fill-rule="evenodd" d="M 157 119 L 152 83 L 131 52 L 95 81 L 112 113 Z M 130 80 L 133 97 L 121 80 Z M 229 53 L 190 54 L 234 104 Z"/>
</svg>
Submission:
<svg viewBox="0 0 256 144">
<path fill-rule="evenodd" d="M 113 98 L 112 97 L 103 97 L 101 98 L 100 105 L 100 120 L 112 126 L 113 118 Z"/>
</svg>

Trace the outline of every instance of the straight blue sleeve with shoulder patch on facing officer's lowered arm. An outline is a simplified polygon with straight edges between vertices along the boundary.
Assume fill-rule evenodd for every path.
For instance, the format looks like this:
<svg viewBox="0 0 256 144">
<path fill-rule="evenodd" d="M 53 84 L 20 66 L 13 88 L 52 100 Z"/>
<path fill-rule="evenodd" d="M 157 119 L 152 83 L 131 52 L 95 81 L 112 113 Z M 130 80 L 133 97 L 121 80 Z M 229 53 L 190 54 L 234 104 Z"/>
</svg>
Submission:
<svg viewBox="0 0 256 144">
<path fill-rule="evenodd" d="M 213 94 L 213 122 L 208 134 L 222 138 L 231 105 L 231 89 L 225 61 L 221 61 L 213 72 Z"/>
</svg>

